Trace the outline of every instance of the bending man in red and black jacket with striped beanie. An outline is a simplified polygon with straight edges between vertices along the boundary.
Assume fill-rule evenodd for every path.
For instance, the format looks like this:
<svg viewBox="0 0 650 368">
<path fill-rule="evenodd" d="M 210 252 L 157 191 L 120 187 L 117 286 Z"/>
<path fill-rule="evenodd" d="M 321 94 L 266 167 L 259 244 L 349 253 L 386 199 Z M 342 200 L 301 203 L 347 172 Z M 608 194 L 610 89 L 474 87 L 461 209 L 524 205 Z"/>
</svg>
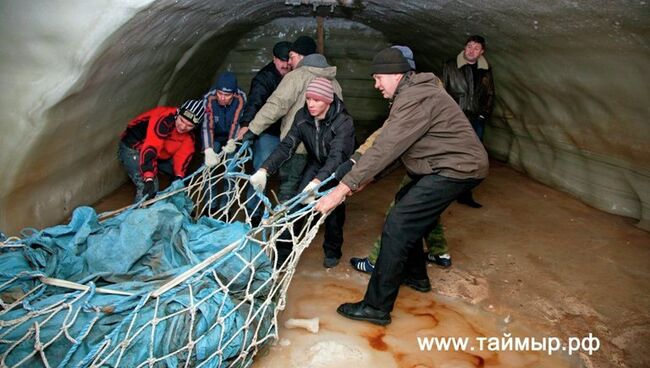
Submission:
<svg viewBox="0 0 650 368">
<path fill-rule="evenodd" d="M 188 100 L 180 108 L 159 106 L 129 122 L 118 158 L 135 184 L 136 202 L 156 195 L 159 170 L 175 179 L 185 177 L 194 154 L 191 131 L 203 114 L 203 101 Z"/>
</svg>

